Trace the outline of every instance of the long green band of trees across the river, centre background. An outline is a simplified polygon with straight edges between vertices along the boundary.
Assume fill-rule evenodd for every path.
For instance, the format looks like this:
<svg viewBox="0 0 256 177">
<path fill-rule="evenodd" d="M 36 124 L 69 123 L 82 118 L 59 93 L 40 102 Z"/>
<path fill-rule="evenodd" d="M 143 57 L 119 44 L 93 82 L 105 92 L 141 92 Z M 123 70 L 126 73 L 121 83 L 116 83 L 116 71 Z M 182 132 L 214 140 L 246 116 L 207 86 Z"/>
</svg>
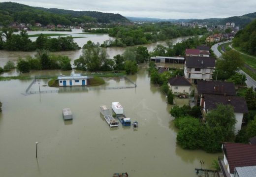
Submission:
<svg viewBox="0 0 256 177">
<path fill-rule="evenodd" d="M 117 26 L 108 29 L 108 35 L 115 40 L 106 40 L 102 47 L 126 47 L 141 44 L 150 44 L 160 40 L 173 39 L 180 36 L 201 35 L 207 32 L 206 28 L 189 28 L 175 26 L 168 22 L 133 26 Z"/>
</svg>

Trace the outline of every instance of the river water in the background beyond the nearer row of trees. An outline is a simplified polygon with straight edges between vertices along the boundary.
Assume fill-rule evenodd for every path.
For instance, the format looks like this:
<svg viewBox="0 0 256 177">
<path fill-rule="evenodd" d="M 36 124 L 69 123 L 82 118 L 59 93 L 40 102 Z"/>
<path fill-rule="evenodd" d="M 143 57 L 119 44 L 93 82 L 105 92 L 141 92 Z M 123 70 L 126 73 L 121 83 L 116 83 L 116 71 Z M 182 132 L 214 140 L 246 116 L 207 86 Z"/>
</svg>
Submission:
<svg viewBox="0 0 256 177">
<path fill-rule="evenodd" d="M 105 40 L 108 39 L 114 39 L 113 37 L 109 37 L 108 34 L 79 34 L 82 33 L 82 29 L 72 29 L 72 32 L 66 32 L 66 31 L 28 31 L 28 34 L 40 34 L 40 33 L 61 33 L 61 34 L 68 34 L 74 37 L 85 37 L 85 38 L 74 38 L 74 41 L 77 42 L 77 44 L 80 47 L 83 47 L 84 44 L 87 43 L 87 41 L 91 40 L 95 43 L 102 44 Z M 58 36 L 52 36 L 52 37 L 58 37 Z M 187 39 L 188 37 L 179 37 L 170 40 L 173 45 L 175 45 L 178 42 L 181 42 L 183 39 Z M 31 40 L 34 41 L 36 37 L 31 37 Z M 153 51 L 153 49 L 158 45 L 161 44 L 163 46 L 166 46 L 165 41 L 159 41 L 157 43 L 147 44 L 143 45 L 148 48 L 149 51 Z M 122 55 L 124 53 L 126 48 L 122 47 L 112 47 L 112 48 L 106 48 L 106 51 L 109 55 L 109 58 L 113 58 L 114 56 L 120 54 Z M 36 52 L 13 52 L 13 51 L 0 51 L 0 66 L 4 66 L 4 64 L 11 60 L 13 62 L 17 62 L 19 58 L 25 58 L 26 56 L 34 56 Z M 82 49 L 77 51 L 62 51 L 62 52 L 53 52 L 52 54 L 55 55 L 65 55 L 68 56 L 72 61 L 74 59 L 78 59 L 79 56 L 82 54 Z M 73 62 L 72 62 L 73 63 Z"/>
</svg>

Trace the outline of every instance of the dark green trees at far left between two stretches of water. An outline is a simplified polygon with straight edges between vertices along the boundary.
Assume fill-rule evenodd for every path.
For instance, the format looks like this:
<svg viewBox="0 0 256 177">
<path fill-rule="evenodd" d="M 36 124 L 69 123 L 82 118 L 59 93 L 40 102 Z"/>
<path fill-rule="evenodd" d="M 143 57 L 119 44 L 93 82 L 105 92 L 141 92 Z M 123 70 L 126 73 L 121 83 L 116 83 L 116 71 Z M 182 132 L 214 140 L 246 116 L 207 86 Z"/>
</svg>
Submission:
<svg viewBox="0 0 256 177">
<path fill-rule="evenodd" d="M 80 49 L 71 36 L 50 38 L 40 34 L 35 42 L 32 42 L 26 30 L 21 30 L 20 34 L 14 34 L 13 32 L 11 28 L 0 29 L 0 50 L 35 51 L 39 49 L 57 52 Z"/>
</svg>

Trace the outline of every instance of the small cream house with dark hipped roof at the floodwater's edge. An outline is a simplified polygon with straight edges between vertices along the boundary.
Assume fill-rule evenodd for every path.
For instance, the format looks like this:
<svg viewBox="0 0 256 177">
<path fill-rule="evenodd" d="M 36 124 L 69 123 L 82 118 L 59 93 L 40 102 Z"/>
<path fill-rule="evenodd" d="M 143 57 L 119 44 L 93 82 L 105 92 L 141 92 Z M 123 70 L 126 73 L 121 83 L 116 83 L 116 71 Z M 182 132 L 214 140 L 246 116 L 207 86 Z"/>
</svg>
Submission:
<svg viewBox="0 0 256 177">
<path fill-rule="evenodd" d="M 182 76 L 175 76 L 168 80 L 168 86 L 174 93 L 190 94 L 191 84 Z"/>
</svg>

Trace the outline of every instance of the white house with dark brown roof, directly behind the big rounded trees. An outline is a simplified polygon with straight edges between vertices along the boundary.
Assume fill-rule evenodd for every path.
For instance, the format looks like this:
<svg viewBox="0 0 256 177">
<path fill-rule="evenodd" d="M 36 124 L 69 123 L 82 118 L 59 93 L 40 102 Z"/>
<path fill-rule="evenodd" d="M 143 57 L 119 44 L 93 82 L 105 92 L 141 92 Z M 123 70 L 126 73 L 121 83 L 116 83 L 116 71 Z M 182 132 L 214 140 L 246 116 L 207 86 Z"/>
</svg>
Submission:
<svg viewBox="0 0 256 177">
<path fill-rule="evenodd" d="M 227 96 L 217 94 L 204 94 L 201 102 L 203 117 L 211 110 L 216 109 L 218 104 L 231 105 L 234 108 L 236 118 L 235 134 L 241 129 L 245 113 L 248 113 L 247 103 L 244 97 Z"/>
</svg>

